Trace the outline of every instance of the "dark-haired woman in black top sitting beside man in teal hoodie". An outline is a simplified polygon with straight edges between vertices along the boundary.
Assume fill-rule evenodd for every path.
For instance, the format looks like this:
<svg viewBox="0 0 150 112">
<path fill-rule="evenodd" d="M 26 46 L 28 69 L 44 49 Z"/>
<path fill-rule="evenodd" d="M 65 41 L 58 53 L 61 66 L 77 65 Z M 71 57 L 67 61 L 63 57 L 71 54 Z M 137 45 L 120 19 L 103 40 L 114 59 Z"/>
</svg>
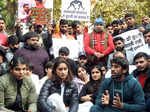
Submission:
<svg viewBox="0 0 150 112">
<path fill-rule="evenodd" d="M 79 94 L 80 103 L 78 112 L 89 112 L 94 104 L 98 89 L 102 81 L 101 66 L 95 65 L 91 68 L 90 81 L 85 84 Z"/>
</svg>

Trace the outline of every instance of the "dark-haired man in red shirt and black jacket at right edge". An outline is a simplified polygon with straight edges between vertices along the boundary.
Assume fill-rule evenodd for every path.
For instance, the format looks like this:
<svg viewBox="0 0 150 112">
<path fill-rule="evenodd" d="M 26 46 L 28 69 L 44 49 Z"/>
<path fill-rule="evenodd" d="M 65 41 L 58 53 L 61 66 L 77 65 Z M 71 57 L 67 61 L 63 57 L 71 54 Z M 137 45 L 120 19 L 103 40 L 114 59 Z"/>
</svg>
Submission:
<svg viewBox="0 0 150 112">
<path fill-rule="evenodd" d="M 134 57 L 134 62 L 137 67 L 132 75 L 140 82 L 146 99 L 147 111 L 150 111 L 150 66 L 148 64 L 148 55 L 139 52 Z"/>
</svg>

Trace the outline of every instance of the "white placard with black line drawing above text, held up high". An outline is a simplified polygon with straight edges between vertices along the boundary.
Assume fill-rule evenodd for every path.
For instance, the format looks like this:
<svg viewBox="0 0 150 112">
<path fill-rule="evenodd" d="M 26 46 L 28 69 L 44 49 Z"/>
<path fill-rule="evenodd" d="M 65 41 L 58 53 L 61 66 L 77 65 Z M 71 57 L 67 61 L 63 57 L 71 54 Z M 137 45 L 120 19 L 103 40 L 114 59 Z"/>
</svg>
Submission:
<svg viewBox="0 0 150 112">
<path fill-rule="evenodd" d="M 62 0 L 61 16 L 66 20 L 90 21 L 90 0 Z"/>
</svg>

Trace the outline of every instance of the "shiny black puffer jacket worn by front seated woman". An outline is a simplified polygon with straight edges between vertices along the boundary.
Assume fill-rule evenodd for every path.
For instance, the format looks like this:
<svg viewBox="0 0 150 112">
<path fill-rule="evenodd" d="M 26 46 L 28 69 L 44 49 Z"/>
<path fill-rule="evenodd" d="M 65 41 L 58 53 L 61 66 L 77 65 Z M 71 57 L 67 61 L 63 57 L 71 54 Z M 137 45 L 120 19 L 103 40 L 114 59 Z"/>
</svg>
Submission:
<svg viewBox="0 0 150 112">
<path fill-rule="evenodd" d="M 52 112 L 52 107 L 47 104 L 47 98 L 53 93 L 61 94 L 61 86 L 56 87 L 54 82 L 49 79 L 43 85 L 38 98 L 39 112 Z M 69 106 L 69 112 L 77 112 L 79 104 L 78 89 L 74 83 L 65 85 L 63 100 L 65 106 Z"/>
</svg>

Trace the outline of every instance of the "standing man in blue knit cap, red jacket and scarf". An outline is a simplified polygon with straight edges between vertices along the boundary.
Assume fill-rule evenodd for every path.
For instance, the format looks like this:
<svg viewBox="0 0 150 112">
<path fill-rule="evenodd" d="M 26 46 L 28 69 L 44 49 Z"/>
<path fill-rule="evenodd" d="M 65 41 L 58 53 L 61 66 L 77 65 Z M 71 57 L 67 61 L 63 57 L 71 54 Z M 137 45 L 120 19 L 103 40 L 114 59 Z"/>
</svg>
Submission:
<svg viewBox="0 0 150 112">
<path fill-rule="evenodd" d="M 94 22 L 94 31 L 85 35 L 84 45 L 86 54 L 93 57 L 93 64 L 107 61 L 106 57 L 114 50 L 114 45 L 112 36 L 104 31 L 102 18 L 97 18 Z"/>
</svg>

